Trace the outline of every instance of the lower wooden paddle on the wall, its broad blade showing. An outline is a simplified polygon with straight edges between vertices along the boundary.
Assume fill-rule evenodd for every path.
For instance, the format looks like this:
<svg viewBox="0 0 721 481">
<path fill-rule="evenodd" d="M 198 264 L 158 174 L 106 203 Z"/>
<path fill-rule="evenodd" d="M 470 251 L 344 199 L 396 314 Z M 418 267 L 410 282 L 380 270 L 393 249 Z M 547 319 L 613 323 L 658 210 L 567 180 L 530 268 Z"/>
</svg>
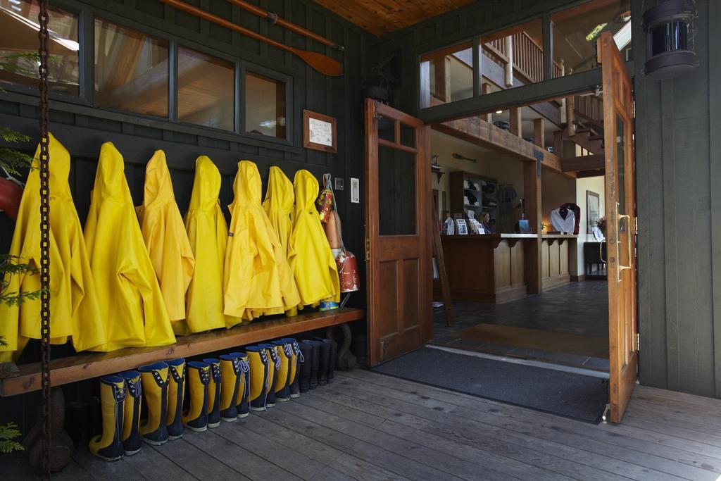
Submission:
<svg viewBox="0 0 721 481">
<path fill-rule="evenodd" d="M 197 6 L 186 4 L 184 1 L 180 0 L 160 0 L 164 4 L 174 6 L 175 8 L 182 10 L 183 12 L 187 12 L 191 15 L 195 15 L 195 17 L 198 17 L 200 19 L 208 20 L 208 22 L 213 22 L 216 25 L 220 25 L 221 27 L 226 27 L 229 30 L 233 30 L 234 32 L 238 32 L 242 35 L 245 35 L 247 37 L 253 38 L 255 40 L 259 40 L 260 42 L 267 43 L 268 45 L 273 45 L 275 48 L 280 48 L 280 50 L 286 50 L 286 52 L 294 53 L 298 57 L 302 58 L 305 63 L 307 63 L 309 66 L 313 67 L 317 71 L 319 71 L 321 74 L 327 75 L 327 76 L 341 76 L 343 74 L 343 66 L 340 64 L 339 61 L 335 60 L 334 58 L 330 58 L 327 55 L 324 55 L 322 53 L 318 52 L 311 52 L 309 50 L 301 50 L 299 48 L 293 48 L 289 47 L 288 45 L 284 43 L 280 43 L 276 40 L 273 40 L 272 38 L 265 37 L 263 35 L 260 35 L 260 33 L 253 32 L 252 30 L 249 30 L 245 27 L 241 27 L 240 25 L 235 25 L 230 20 L 226 20 L 222 17 L 218 17 L 217 15 L 213 15 L 211 13 L 205 12 L 203 9 L 199 9 Z"/>
</svg>

